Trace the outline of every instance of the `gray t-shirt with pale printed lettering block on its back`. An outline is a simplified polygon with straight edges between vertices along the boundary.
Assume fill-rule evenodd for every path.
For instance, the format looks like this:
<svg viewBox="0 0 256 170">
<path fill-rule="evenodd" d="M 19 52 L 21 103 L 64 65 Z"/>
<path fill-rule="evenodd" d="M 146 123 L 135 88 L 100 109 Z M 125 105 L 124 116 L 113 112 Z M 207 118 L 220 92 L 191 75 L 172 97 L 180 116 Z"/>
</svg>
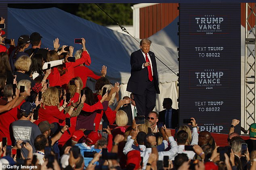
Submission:
<svg viewBox="0 0 256 170">
<path fill-rule="evenodd" d="M 17 120 L 10 125 L 10 130 L 12 131 L 10 137 L 12 141 L 22 140 L 23 142 L 29 142 L 33 147 L 33 153 L 36 152 L 34 146 L 34 140 L 38 135 L 41 135 L 41 131 L 35 123 L 27 120 Z M 14 137 L 14 138 L 13 138 Z M 25 158 L 27 158 L 28 151 L 23 147 L 21 148 L 21 153 Z"/>
</svg>

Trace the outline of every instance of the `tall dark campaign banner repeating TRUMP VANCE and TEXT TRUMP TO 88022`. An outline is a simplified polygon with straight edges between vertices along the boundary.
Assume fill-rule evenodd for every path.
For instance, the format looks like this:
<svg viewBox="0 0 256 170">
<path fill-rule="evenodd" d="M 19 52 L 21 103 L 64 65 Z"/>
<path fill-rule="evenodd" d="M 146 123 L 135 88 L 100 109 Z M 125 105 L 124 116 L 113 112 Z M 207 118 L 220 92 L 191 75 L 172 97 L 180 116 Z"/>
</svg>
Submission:
<svg viewBox="0 0 256 170">
<path fill-rule="evenodd" d="M 241 120 L 240 18 L 240 3 L 180 3 L 179 125 L 228 133 Z"/>
</svg>

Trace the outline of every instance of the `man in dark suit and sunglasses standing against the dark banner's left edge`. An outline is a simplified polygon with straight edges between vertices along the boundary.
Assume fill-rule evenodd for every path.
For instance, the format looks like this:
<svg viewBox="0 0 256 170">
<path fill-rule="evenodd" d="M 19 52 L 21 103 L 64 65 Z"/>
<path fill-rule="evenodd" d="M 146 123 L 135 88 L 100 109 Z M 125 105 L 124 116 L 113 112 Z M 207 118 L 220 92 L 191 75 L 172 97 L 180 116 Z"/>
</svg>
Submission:
<svg viewBox="0 0 256 170">
<path fill-rule="evenodd" d="M 172 99 L 164 98 L 163 111 L 159 112 L 158 122 L 163 122 L 168 129 L 178 127 L 178 110 L 172 109 Z"/>
</svg>

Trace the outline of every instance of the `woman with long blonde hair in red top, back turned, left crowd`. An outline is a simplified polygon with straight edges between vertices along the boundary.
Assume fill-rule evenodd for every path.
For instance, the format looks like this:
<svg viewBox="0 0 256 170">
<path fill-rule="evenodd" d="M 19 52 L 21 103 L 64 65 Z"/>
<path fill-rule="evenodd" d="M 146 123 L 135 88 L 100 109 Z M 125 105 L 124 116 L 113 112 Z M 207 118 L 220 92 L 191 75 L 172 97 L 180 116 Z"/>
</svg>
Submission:
<svg viewBox="0 0 256 170">
<path fill-rule="evenodd" d="M 42 121 L 62 123 L 66 118 L 70 118 L 74 107 L 72 105 L 66 114 L 59 111 L 59 91 L 56 87 L 49 87 L 42 94 L 42 100 L 42 107 L 38 111 L 39 118 L 34 122 L 37 125 Z"/>
</svg>

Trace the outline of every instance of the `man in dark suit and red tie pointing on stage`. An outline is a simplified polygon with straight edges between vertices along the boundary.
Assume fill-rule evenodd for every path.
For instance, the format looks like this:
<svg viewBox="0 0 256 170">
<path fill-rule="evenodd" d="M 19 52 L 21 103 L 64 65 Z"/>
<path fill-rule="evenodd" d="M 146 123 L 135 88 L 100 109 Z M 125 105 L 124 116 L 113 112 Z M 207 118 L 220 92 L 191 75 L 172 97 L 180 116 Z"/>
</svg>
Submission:
<svg viewBox="0 0 256 170">
<path fill-rule="evenodd" d="M 134 94 L 138 116 L 145 117 L 155 108 L 156 93 L 160 94 L 155 54 L 149 51 L 150 45 L 150 40 L 142 39 L 141 49 L 131 54 L 131 76 L 126 88 Z"/>
</svg>

